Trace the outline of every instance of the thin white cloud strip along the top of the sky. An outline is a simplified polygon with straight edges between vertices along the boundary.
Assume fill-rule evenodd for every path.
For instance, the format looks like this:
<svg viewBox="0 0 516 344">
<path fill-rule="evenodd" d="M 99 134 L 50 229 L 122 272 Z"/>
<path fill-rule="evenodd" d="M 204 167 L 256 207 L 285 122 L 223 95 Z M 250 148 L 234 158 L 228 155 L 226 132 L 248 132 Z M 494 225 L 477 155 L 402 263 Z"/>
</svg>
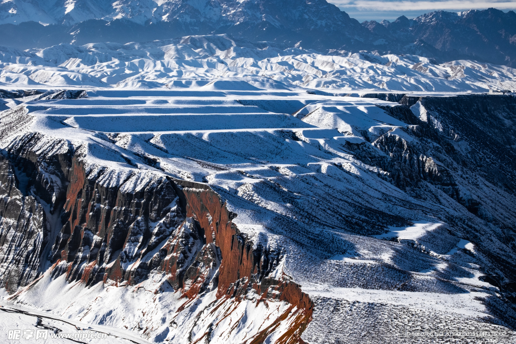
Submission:
<svg viewBox="0 0 516 344">
<path fill-rule="evenodd" d="M 516 9 L 516 2 L 485 0 L 445 0 L 445 1 L 378 1 L 378 0 L 331 0 L 341 8 L 375 11 L 436 11 L 436 10 L 470 10 L 490 7 L 499 10 Z"/>
</svg>

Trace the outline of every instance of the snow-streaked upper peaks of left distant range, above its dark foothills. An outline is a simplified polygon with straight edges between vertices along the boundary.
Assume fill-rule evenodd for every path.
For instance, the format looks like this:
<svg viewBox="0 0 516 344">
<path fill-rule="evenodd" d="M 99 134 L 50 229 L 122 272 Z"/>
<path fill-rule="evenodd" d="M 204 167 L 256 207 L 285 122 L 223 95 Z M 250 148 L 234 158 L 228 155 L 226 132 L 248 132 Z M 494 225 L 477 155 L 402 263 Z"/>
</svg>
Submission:
<svg viewBox="0 0 516 344">
<path fill-rule="evenodd" d="M 204 24 L 213 29 L 262 22 L 278 28 L 299 28 L 305 25 L 307 28 L 331 29 L 341 28 L 349 21 L 349 16 L 345 12 L 324 0 L 12 0 L 2 3 L 0 13 L 0 24 L 27 21 L 76 24 L 89 19 L 127 19 L 138 24 L 162 21 L 178 21 L 191 26 Z"/>
</svg>

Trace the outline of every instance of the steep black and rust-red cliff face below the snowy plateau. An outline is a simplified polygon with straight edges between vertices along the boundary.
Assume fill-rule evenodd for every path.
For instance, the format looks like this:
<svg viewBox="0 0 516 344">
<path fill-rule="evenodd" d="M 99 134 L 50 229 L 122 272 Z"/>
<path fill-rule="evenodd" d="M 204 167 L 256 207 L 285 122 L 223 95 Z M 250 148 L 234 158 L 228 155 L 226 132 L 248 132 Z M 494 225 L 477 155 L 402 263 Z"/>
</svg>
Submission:
<svg viewBox="0 0 516 344">
<path fill-rule="evenodd" d="M 299 341 L 312 302 L 297 284 L 268 277 L 276 266 L 272 254 L 261 245 L 253 249 L 208 186 L 85 166 L 80 148 L 38 134 L 22 136 L 3 153 L 0 283 L 9 292 L 37 281 L 51 265 L 54 278 L 64 274 L 85 286 L 135 285 L 159 271 L 189 299 L 215 289 L 219 299 L 239 299 L 254 289 L 288 302 L 285 317 L 295 307 L 297 313 L 282 342 Z"/>
</svg>

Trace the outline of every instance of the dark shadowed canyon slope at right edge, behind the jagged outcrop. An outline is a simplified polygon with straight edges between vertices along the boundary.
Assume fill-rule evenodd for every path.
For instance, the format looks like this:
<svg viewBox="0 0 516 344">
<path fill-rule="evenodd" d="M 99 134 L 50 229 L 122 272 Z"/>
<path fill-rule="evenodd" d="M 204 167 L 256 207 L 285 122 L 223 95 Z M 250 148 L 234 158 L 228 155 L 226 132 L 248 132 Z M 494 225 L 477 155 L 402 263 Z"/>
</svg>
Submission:
<svg viewBox="0 0 516 344">
<path fill-rule="evenodd" d="M 453 142 L 467 143 L 460 165 L 511 193 L 516 190 L 516 97 L 458 95 L 423 97 L 419 103 Z M 430 123 L 431 124 L 431 123 Z M 459 154 L 457 154 L 459 158 Z"/>
</svg>

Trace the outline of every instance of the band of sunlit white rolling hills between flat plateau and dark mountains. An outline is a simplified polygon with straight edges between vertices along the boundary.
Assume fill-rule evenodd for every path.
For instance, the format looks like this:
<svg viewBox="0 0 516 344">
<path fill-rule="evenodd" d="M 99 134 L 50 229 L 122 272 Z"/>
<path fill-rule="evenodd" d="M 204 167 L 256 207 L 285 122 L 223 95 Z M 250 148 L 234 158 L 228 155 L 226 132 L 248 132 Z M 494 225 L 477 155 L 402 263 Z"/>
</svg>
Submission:
<svg viewBox="0 0 516 344">
<path fill-rule="evenodd" d="M 22 52 L 0 47 L 0 83 L 10 87 L 209 88 L 216 78 L 256 88 L 486 92 L 516 89 L 516 70 L 489 63 L 436 64 L 413 55 L 346 52 L 235 41 L 225 35 L 148 43 L 60 44 Z M 333 92 L 334 92 L 333 91 Z"/>
</svg>

